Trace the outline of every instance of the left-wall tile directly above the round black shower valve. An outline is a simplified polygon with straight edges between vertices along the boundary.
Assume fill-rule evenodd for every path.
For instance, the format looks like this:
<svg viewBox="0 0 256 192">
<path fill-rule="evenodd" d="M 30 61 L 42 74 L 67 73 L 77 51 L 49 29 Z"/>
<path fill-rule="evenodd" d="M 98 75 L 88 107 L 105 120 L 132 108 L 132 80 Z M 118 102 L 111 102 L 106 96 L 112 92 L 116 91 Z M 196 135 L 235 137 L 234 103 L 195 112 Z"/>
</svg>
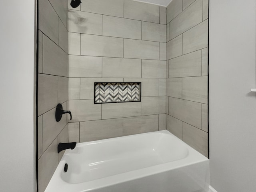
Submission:
<svg viewBox="0 0 256 192">
<path fill-rule="evenodd" d="M 58 77 L 58 103 L 68 100 L 68 78 Z"/>
</svg>

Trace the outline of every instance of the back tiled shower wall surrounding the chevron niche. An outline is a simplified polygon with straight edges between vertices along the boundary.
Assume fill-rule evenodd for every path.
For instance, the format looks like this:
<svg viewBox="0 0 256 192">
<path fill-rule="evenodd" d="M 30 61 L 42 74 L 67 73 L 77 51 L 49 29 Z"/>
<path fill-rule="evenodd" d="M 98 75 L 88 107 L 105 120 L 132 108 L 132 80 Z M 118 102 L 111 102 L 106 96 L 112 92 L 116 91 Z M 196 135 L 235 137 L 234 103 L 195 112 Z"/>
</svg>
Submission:
<svg viewBox="0 0 256 192">
<path fill-rule="evenodd" d="M 69 142 L 166 129 L 166 8 L 83 0 L 68 23 Z M 94 104 L 94 82 L 142 82 L 141 102 Z"/>
</svg>

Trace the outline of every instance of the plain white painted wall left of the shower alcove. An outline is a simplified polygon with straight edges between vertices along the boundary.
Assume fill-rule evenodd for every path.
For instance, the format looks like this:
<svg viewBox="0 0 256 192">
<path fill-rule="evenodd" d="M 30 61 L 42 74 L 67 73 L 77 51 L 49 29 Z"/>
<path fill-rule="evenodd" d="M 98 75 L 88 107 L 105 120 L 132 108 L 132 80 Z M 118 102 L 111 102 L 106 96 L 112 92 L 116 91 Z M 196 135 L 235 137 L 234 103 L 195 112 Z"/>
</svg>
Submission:
<svg viewBox="0 0 256 192">
<path fill-rule="evenodd" d="M 0 191 L 34 192 L 34 0 L 0 6 Z"/>
</svg>

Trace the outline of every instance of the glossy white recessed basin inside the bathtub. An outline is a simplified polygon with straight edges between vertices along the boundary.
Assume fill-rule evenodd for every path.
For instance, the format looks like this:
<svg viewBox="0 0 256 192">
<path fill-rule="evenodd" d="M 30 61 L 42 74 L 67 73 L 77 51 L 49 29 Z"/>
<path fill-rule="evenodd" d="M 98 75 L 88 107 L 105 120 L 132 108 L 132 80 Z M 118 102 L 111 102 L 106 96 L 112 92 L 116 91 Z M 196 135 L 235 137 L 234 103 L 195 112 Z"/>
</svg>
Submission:
<svg viewBox="0 0 256 192">
<path fill-rule="evenodd" d="M 68 172 L 65 182 L 76 184 L 172 162 L 188 156 L 183 143 L 169 134 L 138 134 L 77 144 L 64 154 Z"/>
</svg>

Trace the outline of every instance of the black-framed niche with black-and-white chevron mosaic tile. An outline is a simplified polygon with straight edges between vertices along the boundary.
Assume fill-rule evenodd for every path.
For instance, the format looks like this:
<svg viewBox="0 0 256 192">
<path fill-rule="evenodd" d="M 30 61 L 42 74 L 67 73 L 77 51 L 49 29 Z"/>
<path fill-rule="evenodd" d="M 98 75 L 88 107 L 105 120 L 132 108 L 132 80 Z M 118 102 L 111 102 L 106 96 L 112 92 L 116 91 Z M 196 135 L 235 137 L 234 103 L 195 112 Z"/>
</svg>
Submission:
<svg viewBox="0 0 256 192">
<path fill-rule="evenodd" d="M 94 83 L 94 104 L 140 101 L 141 82 Z"/>
</svg>

